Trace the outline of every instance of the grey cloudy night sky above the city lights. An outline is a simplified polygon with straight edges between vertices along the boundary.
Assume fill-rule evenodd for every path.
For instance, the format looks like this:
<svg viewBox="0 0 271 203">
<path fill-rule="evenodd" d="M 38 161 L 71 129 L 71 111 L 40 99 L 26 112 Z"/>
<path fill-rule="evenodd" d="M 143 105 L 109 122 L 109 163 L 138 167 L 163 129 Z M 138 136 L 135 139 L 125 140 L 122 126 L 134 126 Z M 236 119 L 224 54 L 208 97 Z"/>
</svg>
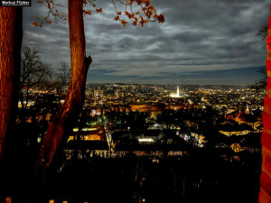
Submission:
<svg viewBox="0 0 271 203">
<path fill-rule="evenodd" d="M 68 1 L 63 1 L 67 4 Z M 87 83 L 233 84 L 255 83 L 265 69 L 266 44 L 257 36 L 269 15 L 269 0 L 153 0 L 165 23 L 144 28 L 114 20 L 109 0 L 98 0 L 102 14 L 85 16 Z M 124 11 L 120 5 L 119 10 Z M 67 14 L 67 5 L 59 9 Z M 70 64 L 68 23 L 34 27 L 46 5 L 23 8 L 23 43 L 42 49 L 42 60 L 56 69 Z"/>
</svg>

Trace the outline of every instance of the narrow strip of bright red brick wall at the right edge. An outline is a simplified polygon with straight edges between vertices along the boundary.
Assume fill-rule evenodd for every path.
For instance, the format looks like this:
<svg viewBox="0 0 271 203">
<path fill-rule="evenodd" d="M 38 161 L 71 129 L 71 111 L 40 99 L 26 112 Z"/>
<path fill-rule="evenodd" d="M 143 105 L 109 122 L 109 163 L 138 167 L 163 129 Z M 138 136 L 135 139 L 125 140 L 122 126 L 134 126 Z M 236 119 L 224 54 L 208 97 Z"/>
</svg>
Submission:
<svg viewBox="0 0 271 203">
<path fill-rule="evenodd" d="M 271 6 L 270 6 L 271 11 Z M 263 112 L 262 173 L 260 176 L 259 203 L 271 202 L 271 15 L 268 20 L 266 74 L 267 87 Z"/>
</svg>

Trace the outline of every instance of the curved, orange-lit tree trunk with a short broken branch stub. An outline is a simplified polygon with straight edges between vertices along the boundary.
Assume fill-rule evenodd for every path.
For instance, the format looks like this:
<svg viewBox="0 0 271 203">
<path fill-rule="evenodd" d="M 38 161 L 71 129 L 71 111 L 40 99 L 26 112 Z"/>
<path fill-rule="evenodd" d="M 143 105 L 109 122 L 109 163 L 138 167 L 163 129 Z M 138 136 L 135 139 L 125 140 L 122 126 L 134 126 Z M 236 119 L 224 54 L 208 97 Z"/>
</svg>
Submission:
<svg viewBox="0 0 271 203">
<path fill-rule="evenodd" d="M 91 57 L 86 58 L 82 0 L 69 0 L 71 78 L 65 102 L 52 119 L 42 144 L 38 164 L 47 169 L 63 142 L 64 134 L 76 123 L 85 100 L 86 77 Z"/>
</svg>

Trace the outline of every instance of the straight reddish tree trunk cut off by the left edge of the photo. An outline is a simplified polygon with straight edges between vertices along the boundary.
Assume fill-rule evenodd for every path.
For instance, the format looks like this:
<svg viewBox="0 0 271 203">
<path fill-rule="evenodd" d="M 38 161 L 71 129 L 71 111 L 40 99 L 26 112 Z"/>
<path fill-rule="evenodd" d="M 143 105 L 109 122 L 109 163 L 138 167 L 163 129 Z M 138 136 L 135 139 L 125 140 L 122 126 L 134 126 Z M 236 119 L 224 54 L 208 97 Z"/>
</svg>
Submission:
<svg viewBox="0 0 271 203">
<path fill-rule="evenodd" d="M 5 138 L 13 128 L 18 106 L 21 46 L 23 37 L 22 7 L 0 7 L 0 163 Z"/>
</svg>

